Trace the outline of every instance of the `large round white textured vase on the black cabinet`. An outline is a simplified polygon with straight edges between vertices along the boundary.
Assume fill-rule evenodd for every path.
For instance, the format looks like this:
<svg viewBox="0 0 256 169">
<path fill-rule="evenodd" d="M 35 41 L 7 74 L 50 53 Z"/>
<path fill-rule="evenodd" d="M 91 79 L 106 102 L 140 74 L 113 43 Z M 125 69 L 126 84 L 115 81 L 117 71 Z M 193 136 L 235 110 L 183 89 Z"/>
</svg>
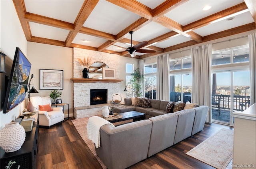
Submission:
<svg viewBox="0 0 256 169">
<path fill-rule="evenodd" d="M 21 148 L 26 132 L 18 122 L 7 123 L 0 131 L 0 147 L 6 152 L 14 152 Z"/>
</svg>

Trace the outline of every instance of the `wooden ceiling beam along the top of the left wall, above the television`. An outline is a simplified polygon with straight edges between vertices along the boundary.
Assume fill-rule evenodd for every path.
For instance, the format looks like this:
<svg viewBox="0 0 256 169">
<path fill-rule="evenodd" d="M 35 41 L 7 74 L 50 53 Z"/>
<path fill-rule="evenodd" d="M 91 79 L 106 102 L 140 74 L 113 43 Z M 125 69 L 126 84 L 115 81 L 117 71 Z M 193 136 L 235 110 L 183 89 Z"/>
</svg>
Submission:
<svg viewBox="0 0 256 169">
<path fill-rule="evenodd" d="M 13 0 L 14 7 L 20 19 L 20 24 L 27 41 L 31 40 L 31 31 L 28 21 L 25 20 L 26 7 L 24 0 Z"/>
</svg>

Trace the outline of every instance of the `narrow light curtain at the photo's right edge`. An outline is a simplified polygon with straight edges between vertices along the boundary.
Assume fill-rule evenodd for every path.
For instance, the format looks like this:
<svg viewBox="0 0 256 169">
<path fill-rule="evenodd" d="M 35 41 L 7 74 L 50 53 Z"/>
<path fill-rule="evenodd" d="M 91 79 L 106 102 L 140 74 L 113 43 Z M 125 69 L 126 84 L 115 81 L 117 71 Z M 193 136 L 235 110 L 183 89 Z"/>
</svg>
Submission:
<svg viewBox="0 0 256 169">
<path fill-rule="evenodd" d="M 256 103 L 256 34 L 248 35 L 250 62 L 250 105 Z"/>
</svg>

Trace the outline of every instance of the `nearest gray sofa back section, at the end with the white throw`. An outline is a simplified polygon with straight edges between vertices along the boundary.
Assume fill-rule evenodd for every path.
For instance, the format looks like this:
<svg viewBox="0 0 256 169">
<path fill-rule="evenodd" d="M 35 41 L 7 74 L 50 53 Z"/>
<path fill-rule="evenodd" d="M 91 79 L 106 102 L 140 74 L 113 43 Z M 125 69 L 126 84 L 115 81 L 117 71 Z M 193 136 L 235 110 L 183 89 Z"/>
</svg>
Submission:
<svg viewBox="0 0 256 169">
<path fill-rule="evenodd" d="M 98 157 L 108 169 L 124 169 L 147 158 L 152 121 L 141 120 L 100 128 Z"/>
</svg>

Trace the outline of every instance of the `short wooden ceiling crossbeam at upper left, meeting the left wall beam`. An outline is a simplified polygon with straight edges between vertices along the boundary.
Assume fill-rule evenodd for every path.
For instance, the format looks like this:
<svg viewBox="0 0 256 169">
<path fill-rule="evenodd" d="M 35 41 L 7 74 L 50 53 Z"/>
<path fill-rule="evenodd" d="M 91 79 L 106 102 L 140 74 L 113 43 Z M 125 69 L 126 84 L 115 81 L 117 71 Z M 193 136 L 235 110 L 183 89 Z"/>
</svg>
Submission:
<svg viewBox="0 0 256 169">
<path fill-rule="evenodd" d="M 25 19 L 29 22 L 35 22 L 38 24 L 44 24 L 44 25 L 53 26 L 56 28 L 74 31 L 74 24 L 64 22 L 61 20 L 56 20 L 53 18 L 48 18 L 46 16 L 41 16 L 41 15 L 26 12 Z"/>
</svg>

